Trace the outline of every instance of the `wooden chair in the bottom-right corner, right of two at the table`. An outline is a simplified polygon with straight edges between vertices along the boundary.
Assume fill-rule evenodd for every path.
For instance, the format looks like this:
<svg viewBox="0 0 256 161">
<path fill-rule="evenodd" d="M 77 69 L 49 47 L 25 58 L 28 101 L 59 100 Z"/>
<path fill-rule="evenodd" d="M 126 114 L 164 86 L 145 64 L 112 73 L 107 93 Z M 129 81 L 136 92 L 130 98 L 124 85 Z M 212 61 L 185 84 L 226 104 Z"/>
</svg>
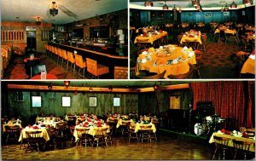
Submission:
<svg viewBox="0 0 256 161">
<path fill-rule="evenodd" d="M 236 155 L 239 153 L 243 156 L 243 159 L 246 160 L 247 155 L 252 153 L 249 151 L 249 149 L 250 149 L 250 146 L 253 145 L 253 142 L 237 141 L 235 139 L 233 139 L 232 141 L 233 141 L 233 145 L 235 147 L 235 154 L 234 154 L 233 159 L 236 159 Z"/>
</svg>

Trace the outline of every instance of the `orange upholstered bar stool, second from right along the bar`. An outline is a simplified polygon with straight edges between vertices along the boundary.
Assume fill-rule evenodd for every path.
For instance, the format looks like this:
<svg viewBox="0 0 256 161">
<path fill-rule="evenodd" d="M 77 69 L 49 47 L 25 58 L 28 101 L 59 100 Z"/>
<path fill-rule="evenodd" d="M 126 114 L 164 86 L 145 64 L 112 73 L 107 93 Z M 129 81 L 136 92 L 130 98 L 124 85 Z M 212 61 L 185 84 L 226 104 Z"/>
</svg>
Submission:
<svg viewBox="0 0 256 161">
<path fill-rule="evenodd" d="M 87 72 L 90 72 L 90 74 L 92 74 L 92 77 L 95 76 L 99 78 L 100 75 L 107 74 L 109 72 L 108 66 L 103 66 L 102 64 L 98 64 L 96 60 L 86 58 L 86 64 L 87 64 Z"/>
</svg>

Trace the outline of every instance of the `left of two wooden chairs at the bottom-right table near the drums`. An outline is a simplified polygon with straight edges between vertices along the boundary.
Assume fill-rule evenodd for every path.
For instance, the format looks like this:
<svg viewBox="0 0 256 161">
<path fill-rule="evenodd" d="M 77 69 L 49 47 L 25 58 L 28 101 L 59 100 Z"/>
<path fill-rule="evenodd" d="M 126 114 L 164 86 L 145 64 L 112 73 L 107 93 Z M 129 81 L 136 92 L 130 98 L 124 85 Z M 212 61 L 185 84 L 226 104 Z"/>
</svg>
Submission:
<svg viewBox="0 0 256 161">
<path fill-rule="evenodd" d="M 215 158 L 216 154 L 219 154 L 220 157 L 223 156 L 223 159 L 225 159 L 225 153 L 227 150 L 230 150 L 230 153 L 232 154 L 230 147 L 228 147 L 231 138 L 213 135 L 213 139 L 215 142 L 215 151 L 213 153 L 212 160 Z"/>
</svg>

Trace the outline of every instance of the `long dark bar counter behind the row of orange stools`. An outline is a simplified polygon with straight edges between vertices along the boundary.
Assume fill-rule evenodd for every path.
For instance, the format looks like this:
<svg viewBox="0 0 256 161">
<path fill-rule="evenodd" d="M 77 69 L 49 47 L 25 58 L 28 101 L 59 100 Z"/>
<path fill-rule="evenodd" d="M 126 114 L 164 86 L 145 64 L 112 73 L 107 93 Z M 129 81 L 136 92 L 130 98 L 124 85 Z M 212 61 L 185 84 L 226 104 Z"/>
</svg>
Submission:
<svg viewBox="0 0 256 161">
<path fill-rule="evenodd" d="M 128 67 L 128 56 L 120 56 L 120 55 L 117 55 L 116 53 L 113 53 L 113 55 L 111 55 L 108 53 L 103 53 L 103 52 L 99 52 L 91 49 L 73 47 L 73 46 L 69 46 L 61 43 L 49 42 L 49 45 L 55 46 L 60 49 L 65 49 L 70 52 L 77 51 L 78 55 L 82 55 L 84 59 L 90 58 L 93 60 L 97 60 L 98 64 L 108 66 L 109 67 L 108 78 L 113 78 L 114 66 Z"/>
</svg>

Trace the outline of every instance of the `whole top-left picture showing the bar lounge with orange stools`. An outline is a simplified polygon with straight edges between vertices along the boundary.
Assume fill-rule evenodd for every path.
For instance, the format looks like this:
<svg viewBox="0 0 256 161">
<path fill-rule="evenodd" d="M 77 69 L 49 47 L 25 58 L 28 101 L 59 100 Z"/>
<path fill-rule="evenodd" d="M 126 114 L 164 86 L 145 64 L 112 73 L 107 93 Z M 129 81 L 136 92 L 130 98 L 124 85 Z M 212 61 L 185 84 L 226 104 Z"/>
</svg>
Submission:
<svg viewBox="0 0 256 161">
<path fill-rule="evenodd" d="M 1 78 L 128 78 L 127 0 L 30 4 L 1 1 Z"/>
</svg>

